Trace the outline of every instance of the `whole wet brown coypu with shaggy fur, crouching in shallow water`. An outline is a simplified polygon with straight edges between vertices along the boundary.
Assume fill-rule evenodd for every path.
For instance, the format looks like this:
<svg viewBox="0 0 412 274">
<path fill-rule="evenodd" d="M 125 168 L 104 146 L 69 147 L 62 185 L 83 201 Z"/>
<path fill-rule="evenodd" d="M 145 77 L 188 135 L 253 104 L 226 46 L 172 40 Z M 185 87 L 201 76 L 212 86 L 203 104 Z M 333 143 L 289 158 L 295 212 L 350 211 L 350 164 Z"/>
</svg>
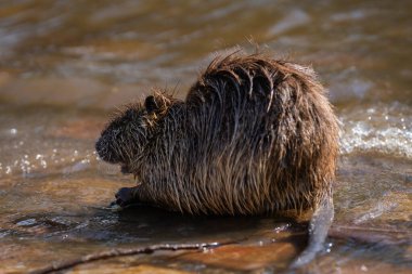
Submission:
<svg viewBox="0 0 412 274">
<path fill-rule="evenodd" d="M 133 173 L 116 203 L 191 214 L 312 209 L 310 261 L 333 219 L 338 125 L 312 69 L 263 54 L 216 57 L 184 101 L 155 92 L 126 106 L 95 145 Z"/>
</svg>

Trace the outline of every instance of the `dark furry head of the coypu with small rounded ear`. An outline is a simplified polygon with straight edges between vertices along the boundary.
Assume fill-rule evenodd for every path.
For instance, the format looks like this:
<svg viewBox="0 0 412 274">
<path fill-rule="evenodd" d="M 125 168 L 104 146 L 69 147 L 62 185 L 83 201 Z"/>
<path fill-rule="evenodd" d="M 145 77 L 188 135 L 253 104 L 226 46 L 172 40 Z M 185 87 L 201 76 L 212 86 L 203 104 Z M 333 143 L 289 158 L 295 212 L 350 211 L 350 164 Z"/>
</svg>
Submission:
<svg viewBox="0 0 412 274">
<path fill-rule="evenodd" d="M 164 95 L 155 94 L 147 96 L 144 104 L 126 106 L 106 126 L 95 143 L 99 157 L 121 165 L 124 173 L 134 173 L 134 162 L 152 138 L 157 121 L 166 113 L 169 103 Z"/>
</svg>

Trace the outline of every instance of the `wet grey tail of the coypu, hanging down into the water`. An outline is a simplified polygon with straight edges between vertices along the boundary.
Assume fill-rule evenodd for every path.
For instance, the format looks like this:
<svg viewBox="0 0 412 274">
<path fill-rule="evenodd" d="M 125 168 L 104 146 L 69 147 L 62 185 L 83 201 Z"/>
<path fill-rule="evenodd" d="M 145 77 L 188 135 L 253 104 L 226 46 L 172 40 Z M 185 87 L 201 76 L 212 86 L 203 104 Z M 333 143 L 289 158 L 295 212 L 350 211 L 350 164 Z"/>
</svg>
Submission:
<svg viewBox="0 0 412 274">
<path fill-rule="evenodd" d="M 324 195 L 319 206 L 314 209 L 309 223 L 309 240 L 306 249 L 292 262 L 291 269 L 298 269 L 314 259 L 322 250 L 327 231 L 334 217 L 332 195 Z"/>
</svg>

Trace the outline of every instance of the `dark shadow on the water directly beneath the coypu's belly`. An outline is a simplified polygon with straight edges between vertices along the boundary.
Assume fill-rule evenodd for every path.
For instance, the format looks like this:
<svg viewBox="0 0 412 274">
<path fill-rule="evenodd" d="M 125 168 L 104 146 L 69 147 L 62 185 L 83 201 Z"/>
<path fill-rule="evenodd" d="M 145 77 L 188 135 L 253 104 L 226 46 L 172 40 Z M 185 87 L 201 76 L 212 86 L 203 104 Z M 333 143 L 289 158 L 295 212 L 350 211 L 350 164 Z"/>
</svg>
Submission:
<svg viewBox="0 0 412 274">
<path fill-rule="evenodd" d="M 114 213 L 110 231 L 138 242 L 243 240 L 276 227 L 302 230 L 292 219 L 263 217 L 188 216 L 149 206 L 133 206 Z"/>
</svg>

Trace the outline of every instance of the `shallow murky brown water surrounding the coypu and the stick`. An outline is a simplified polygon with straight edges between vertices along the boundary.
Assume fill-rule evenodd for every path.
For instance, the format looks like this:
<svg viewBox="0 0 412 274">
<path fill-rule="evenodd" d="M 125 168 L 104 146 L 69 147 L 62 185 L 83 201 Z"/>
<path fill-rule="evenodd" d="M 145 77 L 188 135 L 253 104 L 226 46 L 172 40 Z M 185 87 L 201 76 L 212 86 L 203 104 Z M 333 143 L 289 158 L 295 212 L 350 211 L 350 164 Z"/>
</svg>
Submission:
<svg viewBox="0 0 412 274">
<path fill-rule="evenodd" d="M 1 1 L 0 273 L 115 247 L 236 240 L 70 273 L 270 273 L 305 230 L 105 206 L 132 180 L 96 159 L 116 105 L 188 87 L 216 52 L 254 41 L 312 64 L 343 125 L 336 218 L 313 273 L 412 272 L 411 1 Z M 93 272 L 94 271 L 94 272 Z"/>
</svg>

